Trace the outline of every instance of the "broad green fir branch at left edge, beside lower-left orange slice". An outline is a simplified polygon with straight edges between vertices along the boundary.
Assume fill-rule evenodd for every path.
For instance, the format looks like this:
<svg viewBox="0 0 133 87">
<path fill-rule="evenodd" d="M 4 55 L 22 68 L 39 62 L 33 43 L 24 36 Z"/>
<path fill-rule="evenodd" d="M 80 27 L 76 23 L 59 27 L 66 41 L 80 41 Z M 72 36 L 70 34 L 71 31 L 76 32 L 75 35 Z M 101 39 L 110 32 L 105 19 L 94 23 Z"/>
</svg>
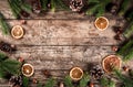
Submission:
<svg viewBox="0 0 133 87">
<path fill-rule="evenodd" d="M 6 78 L 8 74 L 19 75 L 21 64 L 0 53 L 0 77 Z"/>
</svg>

